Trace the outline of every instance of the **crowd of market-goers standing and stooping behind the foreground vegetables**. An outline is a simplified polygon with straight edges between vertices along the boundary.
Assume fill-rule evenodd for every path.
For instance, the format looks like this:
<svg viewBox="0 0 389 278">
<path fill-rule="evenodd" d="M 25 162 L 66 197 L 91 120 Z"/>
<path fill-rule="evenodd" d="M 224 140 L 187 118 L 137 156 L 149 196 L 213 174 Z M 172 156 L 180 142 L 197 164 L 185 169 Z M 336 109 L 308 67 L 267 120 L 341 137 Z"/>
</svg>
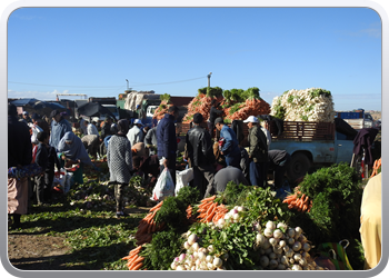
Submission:
<svg viewBox="0 0 389 278">
<path fill-rule="evenodd" d="M 167 168 L 176 185 L 178 113 L 178 107 L 171 106 L 152 127 L 143 126 L 139 119 L 114 122 L 107 117 L 97 125 L 81 118 L 81 135 L 78 135 L 66 119 L 66 112 L 53 110 L 50 117 L 40 117 L 24 111 L 19 117 L 17 108 L 9 105 L 8 214 L 11 227 L 20 227 L 20 215 L 28 214 L 32 202 L 47 206 L 51 201 L 56 171 L 71 172 L 71 186 L 82 185 L 84 167 L 100 170 L 92 162 L 98 157 L 107 156 L 118 218 L 126 216 L 122 191 L 134 172 L 148 178 L 148 186 L 153 187 Z M 193 170 L 190 186 L 199 189 L 201 198 L 225 190 L 230 180 L 267 187 L 267 172 L 273 170 L 272 187 L 280 188 L 290 156 L 282 150 L 269 150 L 270 133 L 253 116 L 243 120 L 249 128 L 248 148 L 243 148 L 240 135 L 237 137 L 221 115 L 219 103 L 213 101 L 209 119 L 203 119 L 201 113 L 193 116 L 183 155 L 187 167 Z M 208 130 L 202 122 L 207 122 Z M 63 192 L 68 190 L 69 187 Z"/>
</svg>

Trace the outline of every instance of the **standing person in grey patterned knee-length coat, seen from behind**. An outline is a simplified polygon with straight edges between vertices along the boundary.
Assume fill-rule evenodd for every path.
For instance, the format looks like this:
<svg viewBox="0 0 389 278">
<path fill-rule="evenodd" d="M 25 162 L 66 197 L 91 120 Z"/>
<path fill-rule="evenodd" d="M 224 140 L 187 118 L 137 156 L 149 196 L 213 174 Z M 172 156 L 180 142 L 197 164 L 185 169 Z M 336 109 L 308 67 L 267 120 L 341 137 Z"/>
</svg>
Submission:
<svg viewBox="0 0 389 278">
<path fill-rule="evenodd" d="M 118 121 L 118 133 L 113 135 L 108 143 L 107 163 L 110 181 L 114 183 L 114 197 L 117 202 L 117 217 L 127 216 L 123 212 L 123 187 L 128 186 L 132 171 L 131 143 L 127 138 L 130 123 L 128 120 Z"/>
</svg>

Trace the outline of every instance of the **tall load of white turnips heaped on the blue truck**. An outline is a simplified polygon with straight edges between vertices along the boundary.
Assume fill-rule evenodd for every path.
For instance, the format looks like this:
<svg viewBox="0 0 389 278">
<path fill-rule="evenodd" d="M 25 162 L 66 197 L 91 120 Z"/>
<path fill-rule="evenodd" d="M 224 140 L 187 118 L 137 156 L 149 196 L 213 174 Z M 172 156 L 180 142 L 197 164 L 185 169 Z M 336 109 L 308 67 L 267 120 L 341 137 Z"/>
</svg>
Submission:
<svg viewBox="0 0 389 278">
<path fill-rule="evenodd" d="M 270 115 L 285 121 L 333 122 L 336 112 L 330 91 L 309 88 L 273 98 Z"/>
</svg>

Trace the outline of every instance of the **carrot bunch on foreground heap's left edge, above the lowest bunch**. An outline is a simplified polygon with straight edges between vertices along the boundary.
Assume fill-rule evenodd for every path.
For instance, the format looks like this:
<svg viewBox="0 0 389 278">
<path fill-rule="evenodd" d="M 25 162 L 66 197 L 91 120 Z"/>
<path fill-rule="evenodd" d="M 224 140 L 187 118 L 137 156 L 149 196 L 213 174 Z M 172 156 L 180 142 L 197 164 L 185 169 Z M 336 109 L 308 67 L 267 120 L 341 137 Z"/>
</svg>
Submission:
<svg viewBox="0 0 389 278">
<path fill-rule="evenodd" d="M 161 208 L 162 202 L 163 201 L 152 207 L 150 209 L 150 212 L 142 220 L 139 221 L 138 230 L 136 234 L 138 246 L 150 242 L 152 239 L 152 234 L 163 229 L 164 224 L 160 224 L 157 226 L 154 221 L 154 216 L 157 211 Z"/>
</svg>

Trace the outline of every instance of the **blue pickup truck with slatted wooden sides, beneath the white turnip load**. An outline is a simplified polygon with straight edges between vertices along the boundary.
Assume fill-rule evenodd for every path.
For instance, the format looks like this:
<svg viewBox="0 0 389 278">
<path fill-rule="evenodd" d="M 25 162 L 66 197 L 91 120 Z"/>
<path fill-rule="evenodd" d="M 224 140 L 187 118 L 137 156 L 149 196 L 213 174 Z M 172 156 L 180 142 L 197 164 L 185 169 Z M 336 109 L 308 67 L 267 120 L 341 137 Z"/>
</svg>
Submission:
<svg viewBox="0 0 389 278">
<path fill-rule="evenodd" d="M 353 140 L 336 130 L 333 122 L 283 121 L 277 135 L 270 122 L 270 149 L 286 150 L 291 156 L 287 170 L 290 180 L 305 176 L 312 166 L 351 162 Z"/>
</svg>

